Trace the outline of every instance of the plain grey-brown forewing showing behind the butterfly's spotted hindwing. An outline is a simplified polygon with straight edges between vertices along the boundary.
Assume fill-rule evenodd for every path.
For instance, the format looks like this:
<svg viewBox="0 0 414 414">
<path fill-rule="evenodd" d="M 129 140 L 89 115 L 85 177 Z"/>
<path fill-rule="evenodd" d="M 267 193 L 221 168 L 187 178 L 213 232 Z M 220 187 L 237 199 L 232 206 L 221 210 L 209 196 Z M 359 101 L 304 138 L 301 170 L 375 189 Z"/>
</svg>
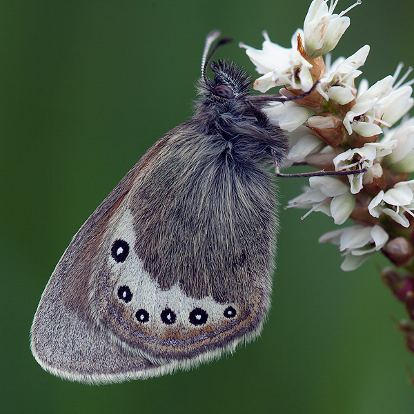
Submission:
<svg viewBox="0 0 414 414">
<path fill-rule="evenodd" d="M 32 353 L 50 373 L 66 380 L 121 382 L 161 375 L 165 368 L 120 346 L 99 322 L 93 291 L 102 246 L 134 179 L 154 159 L 160 139 L 101 203 L 61 257 L 43 292 L 30 330 Z M 116 220 L 115 220 L 116 221 Z"/>
</svg>

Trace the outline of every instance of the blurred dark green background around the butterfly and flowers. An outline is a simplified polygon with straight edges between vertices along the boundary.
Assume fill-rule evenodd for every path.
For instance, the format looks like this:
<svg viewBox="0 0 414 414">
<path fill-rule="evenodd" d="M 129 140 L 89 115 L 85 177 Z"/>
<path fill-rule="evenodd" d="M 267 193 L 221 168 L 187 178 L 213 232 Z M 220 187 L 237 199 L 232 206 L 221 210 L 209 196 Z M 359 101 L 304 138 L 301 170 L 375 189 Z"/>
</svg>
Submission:
<svg viewBox="0 0 414 414">
<path fill-rule="evenodd" d="M 351 0 L 352 1 L 352 0 Z M 351 5 L 341 0 L 337 12 Z M 84 386 L 41 370 L 29 328 L 72 235 L 144 151 L 188 119 L 204 37 L 290 46 L 310 0 L 0 1 L 1 413 L 413 413 L 406 313 L 375 256 L 352 273 L 317 244 L 332 220 L 282 210 L 273 308 L 230 357 L 147 381 Z M 413 2 L 364 0 L 333 57 L 368 43 L 370 83 L 414 63 Z M 305 181 L 280 181 L 280 199 Z"/>
</svg>

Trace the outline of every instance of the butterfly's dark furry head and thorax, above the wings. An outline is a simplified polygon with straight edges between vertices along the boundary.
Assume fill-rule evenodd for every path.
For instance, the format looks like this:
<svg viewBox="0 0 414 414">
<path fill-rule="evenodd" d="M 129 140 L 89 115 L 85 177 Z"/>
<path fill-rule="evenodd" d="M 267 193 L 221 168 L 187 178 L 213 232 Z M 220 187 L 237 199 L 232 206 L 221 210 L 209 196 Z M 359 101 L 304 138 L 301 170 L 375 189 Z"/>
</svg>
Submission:
<svg viewBox="0 0 414 414">
<path fill-rule="evenodd" d="M 195 106 L 194 121 L 200 130 L 208 131 L 212 140 L 227 143 L 227 154 L 261 165 L 272 161 L 274 150 L 282 163 L 288 150 L 288 139 L 273 126 L 263 112 L 257 119 L 246 99 L 251 95 L 251 80 L 235 63 L 219 60 L 211 63 L 214 79 L 199 80 L 200 98 Z M 226 97 L 215 95 L 217 88 L 229 90 Z M 220 91 L 219 91 L 220 92 Z M 261 105 L 255 105 L 261 111 Z"/>
</svg>

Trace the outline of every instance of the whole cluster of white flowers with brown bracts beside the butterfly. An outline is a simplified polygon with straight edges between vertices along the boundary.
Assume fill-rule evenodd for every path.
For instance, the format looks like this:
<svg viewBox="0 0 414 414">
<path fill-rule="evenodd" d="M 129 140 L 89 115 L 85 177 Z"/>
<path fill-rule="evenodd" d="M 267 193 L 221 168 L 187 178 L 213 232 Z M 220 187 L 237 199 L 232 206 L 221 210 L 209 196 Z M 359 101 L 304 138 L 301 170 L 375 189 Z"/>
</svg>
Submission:
<svg viewBox="0 0 414 414">
<path fill-rule="evenodd" d="M 260 92 L 279 86 L 282 95 L 293 97 L 319 82 L 307 97 L 274 102 L 264 109 L 270 121 L 290 137 L 285 166 L 305 163 L 337 171 L 366 168 L 348 178 L 311 177 L 309 187 L 287 206 L 307 208 L 306 215 L 322 211 L 335 224 L 344 224 L 348 217 L 357 221 L 319 238 L 319 242 L 339 245 L 345 256 L 342 269 L 354 270 L 388 242 L 384 223 L 391 222 L 395 228 L 414 223 L 410 219 L 414 217 L 414 180 L 406 181 L 408 172 L 414 171 L 414 118 L 393 127 L 414 104 L 414 80 L 404 83 L 410 68 L 397 81 L 400 63 L 393 76 L 371 88 L 362 79 L 355 88 L 369 46 L 333 62 L 330 52 L 350 24 L 344 14 L 361 1 L 334 14 L 338 1 L 331 0 L 328 6 L 328 0 L 313 0 L 303 30 L 293 34 L 291 48 L 273 43 L 267 32 L 263 32 L 262 50 L 244 43 L 240 46 L 262 75 L 255 81 Z"/>
</svg>

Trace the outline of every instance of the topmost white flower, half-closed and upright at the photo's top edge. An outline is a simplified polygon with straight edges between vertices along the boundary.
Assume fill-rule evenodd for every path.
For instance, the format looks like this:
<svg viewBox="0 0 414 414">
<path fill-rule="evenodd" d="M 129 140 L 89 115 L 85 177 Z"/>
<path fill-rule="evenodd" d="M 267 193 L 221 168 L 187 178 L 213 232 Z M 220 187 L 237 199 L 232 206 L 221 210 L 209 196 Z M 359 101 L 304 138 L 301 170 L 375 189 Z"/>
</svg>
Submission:
<svg viewBox="0 0 414 414">
<path fill-rule="evenodd" d="M 335 2 L 331 0 L 328 8 L 328 0 L 313 0 L 309 7 L 304 21 L 304 46 L 306 55 L 311 59 L 331 52 L 335 48 L 350 24 L 349 17 L 344 17 L 344 14 L 361 3 L 358 0 L 343 12 L 333 14 L 337 2 L 338 0 Z"/>
</svg>

